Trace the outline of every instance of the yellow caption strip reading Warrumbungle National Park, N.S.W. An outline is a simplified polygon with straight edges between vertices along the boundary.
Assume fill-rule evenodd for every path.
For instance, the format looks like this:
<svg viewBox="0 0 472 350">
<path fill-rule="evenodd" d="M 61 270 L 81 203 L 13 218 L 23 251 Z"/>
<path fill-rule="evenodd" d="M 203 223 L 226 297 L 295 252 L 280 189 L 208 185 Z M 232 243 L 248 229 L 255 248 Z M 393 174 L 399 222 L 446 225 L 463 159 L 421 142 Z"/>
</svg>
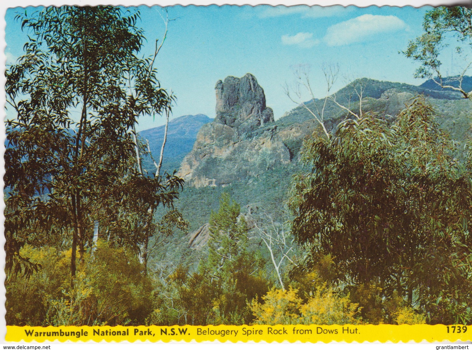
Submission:
<svg viewBox="0 0 472 350">
<path fill-rule="evenodd" d="M 471 329 L 468 329 L 471 328 Z M 470 341 L 472 326 L 466 325 L 208 325 L 208 326 L 7 326 L 5 340 L 95 342 L 428 342 Z"/>
</svg>

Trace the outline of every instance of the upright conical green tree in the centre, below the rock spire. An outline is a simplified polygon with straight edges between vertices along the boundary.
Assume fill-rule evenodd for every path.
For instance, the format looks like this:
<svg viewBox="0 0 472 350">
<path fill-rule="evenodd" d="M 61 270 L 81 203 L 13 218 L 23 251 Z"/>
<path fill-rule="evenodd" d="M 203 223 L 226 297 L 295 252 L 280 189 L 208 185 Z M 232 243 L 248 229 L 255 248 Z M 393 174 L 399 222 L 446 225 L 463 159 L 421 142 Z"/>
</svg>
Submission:
<svg viewBox="0 0 472 350">
<path fill-rule="evenodd" d="M 239 205 L 223 192 L 219 210 L 210 217 L 208 260 L 200 266 L 200 273 L 219 291 L 213 300 L 216 323 L 247 323 L 247 300 L 267 291 L 266 282 L 257 277 L 264 263 L 247 250 L 248 231 Z"/>
</svg>

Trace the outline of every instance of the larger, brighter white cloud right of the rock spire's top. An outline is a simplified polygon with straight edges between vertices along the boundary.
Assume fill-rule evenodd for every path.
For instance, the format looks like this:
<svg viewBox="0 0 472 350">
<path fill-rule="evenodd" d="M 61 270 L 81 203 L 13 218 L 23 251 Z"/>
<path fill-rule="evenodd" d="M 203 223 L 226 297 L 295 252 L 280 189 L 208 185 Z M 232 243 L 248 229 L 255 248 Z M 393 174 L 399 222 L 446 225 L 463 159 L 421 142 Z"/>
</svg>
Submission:
<svg viewBox="0 0 472 350">
<path fill-rule="evenodd" d="M 323 40 L 328 46 L 341 46 L 369 40 L 379 33 L 407 30 L 408 26 L 396 16 L 362 15 L 331 25 Z"/>
</svg>

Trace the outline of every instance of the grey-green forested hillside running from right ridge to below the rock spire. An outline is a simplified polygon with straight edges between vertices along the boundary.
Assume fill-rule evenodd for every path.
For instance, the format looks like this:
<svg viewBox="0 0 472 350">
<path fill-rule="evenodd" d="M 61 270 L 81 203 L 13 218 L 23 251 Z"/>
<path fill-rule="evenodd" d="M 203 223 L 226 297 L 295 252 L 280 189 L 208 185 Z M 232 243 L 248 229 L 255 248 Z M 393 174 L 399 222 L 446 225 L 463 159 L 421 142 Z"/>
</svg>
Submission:
<svg viewBox="0 0 472 350">
<path fill-rule="evenodd" d="M 430 97 L 428 92 L 432 91 L 425 90 L 421 86 L 361 79 L 336 92 L 337 101 L 346 102 L 349 99 L 348 96 L 351 96 L 351 100 L 354 100 L 352 98 L 354 86 L 361 83 L 362 86 L 366 87 L 362 100 L 364 111 L 374 112 L 379 117 L 386 118 L 390 122 L 395 120 L 395 116 L 415 96 L 425 96 L 426 100 L 434 108 L 436 114 L 435 121 L 444 131 L 451 135 L 455 142 L 459 143 L 460 146 L 458 146 L 456 156 L 465 157 L 464 142 L 471 133 L 471 112 L 468 109 L 470 102 L 462 99 L 460 94 L 439 91 L 434 92 L 433 96 L 435 97 Z M 308 102 L 307 106 L 316 109 L 313 105 L 317 103 L 319 108 L 321 108 L 322 102 L 322 100 Z M 332 101 L 328 102 L 327 105 L 325 111 L 326 123 L 332 125 L 331 127 L 335 127 L 337 123 L 346 118 L 346 111 Z M 353 110 L 358 109 L 359 102 L 354 100 L 351 108 Z M 388 117 L 388 115 L 393 117 Z M 194 189 L 192 186 L 185 186 L 180 199 L 176 202 L 176 206 L 182 212 L 187 213 L 186 219 L 190 222 L 191 230 L 196 230 L 208 222 L 211 210 L 217 208 L 219 194 L 224 191 L 231 193 L 233 198 L 243 208 L 247 205 L 274 208 L 273 214 L 277 215 L 277 208 L 280 203 L 287 201 L 291 175 L 301 170 L 298 153 L 302 146 L 303 138 L 311 135 L 317 125 L 314 123 L 310 112 L 303 107 L 296 107 L 287 112 L 283 117 L 276 120 L 274 124 L 278 126 L 278 134 L 282 135 L 287 149 L 293 153 L 293 161 L 288 164 L 274 162 L 271 167 L 264 169 L 263 174 L 244 176 L 239 182 L 233 182 L 224 188 L 217 186 Z M 294 129 L 297 127 L 303 129 L 303 133 L 296 133 Z M 258 134 L 253 133 L 253 137 L 258 137 Z M 256 162 L 253 164 L 254 167 L 257 166 Z M 222 163 L 222 167 L 227 168 L 225 171 L 231 171 L 234 165 L 241 167 L 241 164 L 238 164 L 233 158 L 226 163 Z M 203 175 L 210 177 L 212 172 Z M 267 183 L 272 185 L 266 186 Z"/>
</svg>

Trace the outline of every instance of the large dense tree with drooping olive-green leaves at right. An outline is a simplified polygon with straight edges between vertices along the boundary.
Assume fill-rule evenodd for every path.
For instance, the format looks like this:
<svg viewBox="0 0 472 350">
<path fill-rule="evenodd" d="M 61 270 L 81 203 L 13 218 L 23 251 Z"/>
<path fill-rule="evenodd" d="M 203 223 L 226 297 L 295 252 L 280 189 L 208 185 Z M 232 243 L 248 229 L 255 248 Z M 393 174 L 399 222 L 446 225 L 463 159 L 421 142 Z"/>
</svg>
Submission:
<svg viewBox="0 0 472 350">
<path fill-rule="evenodd" d="M 445 307 L 470 302 L 472 185 L 454 151 L 421 99 L 391 127 L 370 115 L 330 141 L 315 133 L 303 150 L 312 170 L 291 190 L 293 233 L 332 254 L 346 282 L 379 283 L 380 298 L 396 291 L 410 305 L 418 293 L 431 323 L 459 320 L 459 306 Z"/>
</svg>

